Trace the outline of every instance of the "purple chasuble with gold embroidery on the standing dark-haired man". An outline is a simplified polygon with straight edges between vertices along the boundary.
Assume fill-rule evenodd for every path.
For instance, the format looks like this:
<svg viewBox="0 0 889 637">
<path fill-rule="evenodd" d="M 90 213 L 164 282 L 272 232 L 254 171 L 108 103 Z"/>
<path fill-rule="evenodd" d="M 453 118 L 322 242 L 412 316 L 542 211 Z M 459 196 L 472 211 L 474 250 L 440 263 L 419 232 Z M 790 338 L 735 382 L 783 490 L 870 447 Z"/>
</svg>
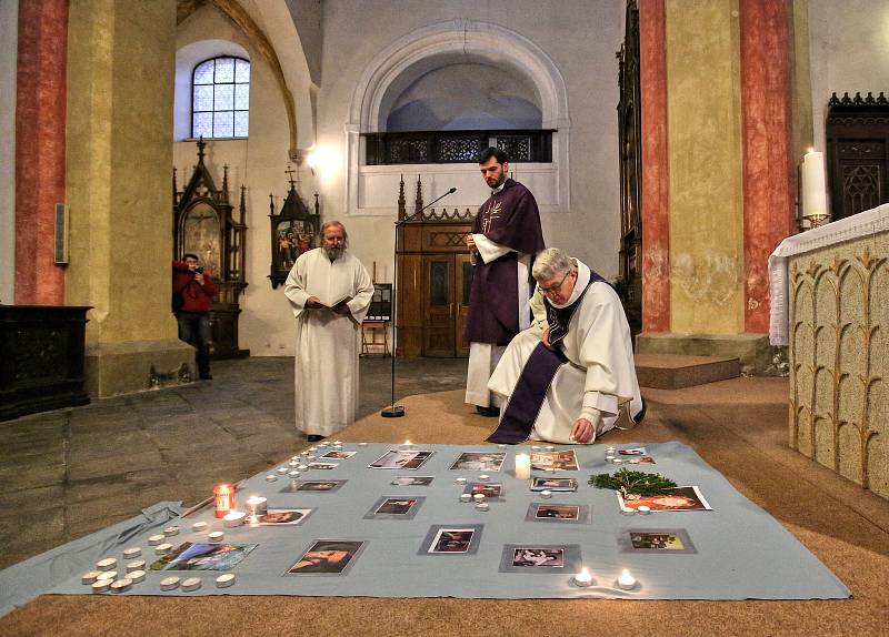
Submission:
<svg viewBox="0 0 889 637">
<path fill-rule="evenodd" d="M 481 205 L 472 221 L 472 233 L 483 234 L 499 245 L 532 257 L 545 247 L 535 195 L 511 179 Z M 470 343 L 507 345 L 519 333 L 516 252 L 490 263 L 477 257 L 466 325 L 466 338 Z"/>
</svg>

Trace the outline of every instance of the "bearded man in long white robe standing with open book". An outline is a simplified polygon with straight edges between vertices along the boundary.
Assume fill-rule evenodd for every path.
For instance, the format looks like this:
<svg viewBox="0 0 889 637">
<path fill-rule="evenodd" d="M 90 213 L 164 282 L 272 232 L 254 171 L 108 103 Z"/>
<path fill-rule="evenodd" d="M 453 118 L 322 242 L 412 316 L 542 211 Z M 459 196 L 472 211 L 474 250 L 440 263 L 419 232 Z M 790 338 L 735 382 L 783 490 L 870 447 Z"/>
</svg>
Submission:
<svg viewBox="0 0 889 637">
<path fill-rule="evenodd" d="M 296 424 L 309 442 L 354 422 L 361 321 L 373 299 L 368 271 L 346 251 L 346 228 L 328 221 L 321 234 L 321 247 L 302 253 L 284 284 L 297 317 Z"/>
</svg>

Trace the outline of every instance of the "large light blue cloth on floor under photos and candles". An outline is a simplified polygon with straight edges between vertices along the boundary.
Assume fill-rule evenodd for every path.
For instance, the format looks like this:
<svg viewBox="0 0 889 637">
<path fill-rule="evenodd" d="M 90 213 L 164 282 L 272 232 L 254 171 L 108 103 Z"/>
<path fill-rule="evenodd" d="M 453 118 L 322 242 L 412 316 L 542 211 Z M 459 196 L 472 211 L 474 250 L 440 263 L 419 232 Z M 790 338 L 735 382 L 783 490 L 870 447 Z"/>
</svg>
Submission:
<svg viewBox="0 0 889 637">
<path fill-rule="evenodd" d="M 619 445 L 630 448 L 639 445 Z M 258 544 L 229 573 L 237 577 L 230 588 L 216 588 L 212 570 L 149 570 L 146 580 L 123 593 L 107 595 L 300 595 L 367 597 L 458 597 L 458 598 L 635 598 L 635 599 L 828 599 L 848 598 L 849 589 L 799 540 L 775 518 L 745 498 L 717 471 L 705 463 L 690 447 L 680 443 L 646 444 L 647 454 L 656 464 L 635 464 L 631 471 L 659 473 L 681 486 L 698 486 L 712 510 L 655 512 L 649 515 L 622 515 L 616 494 L 587 484 L 591 474 L 613 473 L 619 467 L 607 463 L 603 445 L 558 445 L 557 451 L 573 448 L 579 471 L 542 472 L 532 476 L 575 477 L 575 493 L 555 493 L 541 499 L 529 491 L 528 481 L 512 475 L 515 456 L 528 447 L 498 449 L 492 445 L 413 445 L 433 454 L 418 469 L 373 469 L 368 465 L 398 445 L 343 444 L 343 451 L 357 452 L 348 459 L 336 461 L 334 469 L 313 469 L 299 479 L 347 481 L 336 492 L 292 492 L 286 488 L 286 476 L 269 483 L 268 472 L 242 483 L 237 502 L 250 495 L 268 498 L 269 508 L 314 508 L 298 526 L 241 526 L 224 528 L 206 507 L 168 524 L 178 524 L 180 534 L 167 542 L 207 542 L 211 530 L 223 530 L 231 544 Z M 499 472 L 449 469 L 463 452 L 503 452 L 506 461 Z M 627 466 L 627 465 L 622 465 Z M 209 471 L 209 469 L 208 469 Z M 273 469 L 271 469 L 273 471 Z M 487 512 L 460 502 L 463 485 L 457 477 L 477 481 L 479 474 L 490 476 L 490 484 L 505 486 L 502 499 L 490 499 Z M 397 476 L 434 476 L 428 486 L 396 486 Z M 382 496 L 422 497 L 422 506 L 411 519 L 366 517 Z M 558 503 L 589 507 L 583 524 L 541 524 L 529 519 L 531 503 Z M 203 533 L 192 533 L 194 522 L 208 522 Z M 476 546 L 466 554 L 429 554 L 424 542 L 433 527 L 476 528 Z M 691 552 L 628 552 L 628 533 L 681 529 L 693 544 Z M 92 536 L 102 542 L 86 542 L 90 550 L 78 555 L 77 573 L 59 577 L 49 593 L 92 594 L 81 584 L 82 573 L 93 569 L 94 562 L 117 557 L 120 570 L 126 560 L 124 548 L 140 546 L 141 559 L 154 559 L 147 538 L 157 528 L 144 529 L 116 546 L 109 545 L 120 534 L 99 532 Z M 287 575 L 286 572 L 316 540 L 360 540 L 366 544 L 343 575 Z M 506 550 L 511 547 L 566 547 L 566 565 L 551 569 L 505 568 Z M 39 556 L 38 556 L 39 557 Z M 570 557 L 570 559 L 569 559 Z M 29 560 L 30 562 L 30 560 Z M 23 563 L 24 564 L 24 563 Z M 589 568 L 593 583 L 579 588 L 572 583 L 575 568 Z M 12 567 L 16 568 L 16 567 Z M 620 589 L 616 580 L 629 569 L 638 580 L 631 590 Z M 10 570 L 10 569 L 7 569 Z M 6 572 L 0 573 L 0 583 Z M 161 592 L 159 582 L 171 575 L 198 577 L 200 589 Z M 9 583 L 6 582 L 8 585 Z"/>
</svg>

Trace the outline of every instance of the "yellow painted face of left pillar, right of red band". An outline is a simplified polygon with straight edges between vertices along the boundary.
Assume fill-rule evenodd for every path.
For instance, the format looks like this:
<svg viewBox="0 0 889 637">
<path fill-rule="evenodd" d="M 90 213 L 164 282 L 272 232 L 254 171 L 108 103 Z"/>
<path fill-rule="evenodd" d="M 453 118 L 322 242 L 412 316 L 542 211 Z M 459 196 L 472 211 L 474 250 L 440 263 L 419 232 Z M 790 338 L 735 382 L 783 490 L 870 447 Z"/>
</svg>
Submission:
<svg viewBox="0 0 889 637">
<path fill-rule="evenodd" d="M 88 344 L 176 338 L 174 52 L 174 0 L 71 0 L 66 303 L 94 306 Z"/>
</svg>

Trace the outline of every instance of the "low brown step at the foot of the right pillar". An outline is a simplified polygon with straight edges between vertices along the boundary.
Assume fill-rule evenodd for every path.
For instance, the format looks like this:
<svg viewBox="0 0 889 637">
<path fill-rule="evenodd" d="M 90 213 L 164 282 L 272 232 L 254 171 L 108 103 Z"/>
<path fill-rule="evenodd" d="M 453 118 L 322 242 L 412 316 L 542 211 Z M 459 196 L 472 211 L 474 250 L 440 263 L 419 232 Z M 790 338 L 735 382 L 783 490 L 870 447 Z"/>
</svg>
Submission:
<svg viewBox="0 0 889 637">
<path fill-rule="evenodd" d="M 635 358 L 641 387 L 681 390 L 741 375 L 738 358 L 680 354 L 636 354 Z"/>
</svg>

